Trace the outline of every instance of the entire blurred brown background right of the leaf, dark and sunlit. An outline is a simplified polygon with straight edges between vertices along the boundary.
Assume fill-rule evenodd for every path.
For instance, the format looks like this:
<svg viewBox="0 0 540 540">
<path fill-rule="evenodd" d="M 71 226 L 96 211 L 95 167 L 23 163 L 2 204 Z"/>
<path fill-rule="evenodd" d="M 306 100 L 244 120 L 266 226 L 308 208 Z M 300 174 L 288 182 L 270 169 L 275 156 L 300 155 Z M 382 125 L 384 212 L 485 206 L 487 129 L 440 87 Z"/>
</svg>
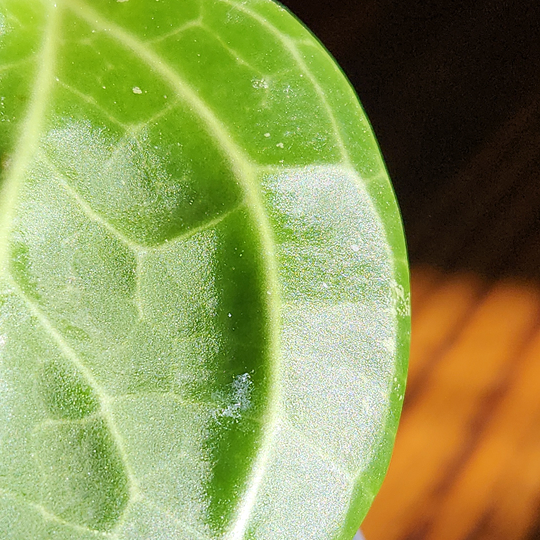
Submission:
<svg viewBox="0 0 540 540">
<path fill-rule="evenodd" d="M 369 540 L 540 539 L 540 5 L 283 0 L 370 118 L 412 266 Z"/>
</svg>

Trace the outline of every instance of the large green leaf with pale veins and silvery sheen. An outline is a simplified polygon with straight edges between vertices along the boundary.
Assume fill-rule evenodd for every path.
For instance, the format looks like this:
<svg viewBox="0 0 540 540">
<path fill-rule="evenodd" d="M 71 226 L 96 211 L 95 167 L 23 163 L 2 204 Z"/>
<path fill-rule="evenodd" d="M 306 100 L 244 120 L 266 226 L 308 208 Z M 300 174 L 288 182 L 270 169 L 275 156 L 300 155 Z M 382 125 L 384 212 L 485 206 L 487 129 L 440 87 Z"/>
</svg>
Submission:
<svg viewBox="0 0 540 540">
<path fill-rule="evenodd" d="M 0 0 L 0 530 L 349 540 L 401 409 L 399 214 L 270 0 Z"/>
</svg>

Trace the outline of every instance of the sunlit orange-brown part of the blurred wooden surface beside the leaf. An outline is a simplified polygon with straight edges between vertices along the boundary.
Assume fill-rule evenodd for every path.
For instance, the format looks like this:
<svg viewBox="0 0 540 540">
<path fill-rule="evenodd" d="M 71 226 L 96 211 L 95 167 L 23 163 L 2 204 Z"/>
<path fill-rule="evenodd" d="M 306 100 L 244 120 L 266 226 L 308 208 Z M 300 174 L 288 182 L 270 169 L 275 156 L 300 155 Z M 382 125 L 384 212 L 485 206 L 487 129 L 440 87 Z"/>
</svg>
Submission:
<svg viewBox="0 0 540 540">
<path fill-rule="evenodd" d="M 408 392 L 369 540 L 538 536 L 540 288 L 412 272 Z"/>
</svg>

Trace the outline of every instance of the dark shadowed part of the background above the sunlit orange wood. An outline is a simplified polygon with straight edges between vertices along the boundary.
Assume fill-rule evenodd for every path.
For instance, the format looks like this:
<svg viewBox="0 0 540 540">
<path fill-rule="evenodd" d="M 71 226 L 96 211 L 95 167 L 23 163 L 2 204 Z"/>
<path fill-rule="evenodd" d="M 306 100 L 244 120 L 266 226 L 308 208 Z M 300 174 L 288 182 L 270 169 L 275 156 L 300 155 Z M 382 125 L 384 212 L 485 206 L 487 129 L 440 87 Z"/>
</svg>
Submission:
<svg viewBox="0 0 540 540">
<path fill-rule="evenodd" d="M 540 5 L 283 3 L 360 96 L 411 262 L 540 278 Z"/>
</svg>

